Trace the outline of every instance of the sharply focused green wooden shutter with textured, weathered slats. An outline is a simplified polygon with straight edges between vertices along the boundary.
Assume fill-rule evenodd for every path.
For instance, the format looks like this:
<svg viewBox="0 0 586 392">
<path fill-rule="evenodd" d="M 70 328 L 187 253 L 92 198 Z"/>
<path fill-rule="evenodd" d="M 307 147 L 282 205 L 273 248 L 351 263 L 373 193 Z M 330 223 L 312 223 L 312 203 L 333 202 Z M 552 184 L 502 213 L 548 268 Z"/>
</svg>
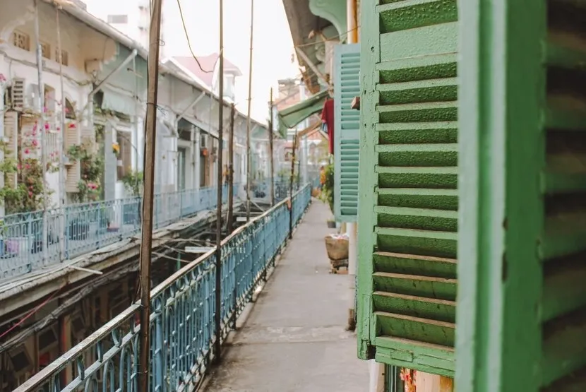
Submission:
<svg viewBox="0 0 586 392">
<path fill-rule="evenodd" d="M 456 0 L 363 0 L 359 357 L 453 376 Z"/>
</svg>

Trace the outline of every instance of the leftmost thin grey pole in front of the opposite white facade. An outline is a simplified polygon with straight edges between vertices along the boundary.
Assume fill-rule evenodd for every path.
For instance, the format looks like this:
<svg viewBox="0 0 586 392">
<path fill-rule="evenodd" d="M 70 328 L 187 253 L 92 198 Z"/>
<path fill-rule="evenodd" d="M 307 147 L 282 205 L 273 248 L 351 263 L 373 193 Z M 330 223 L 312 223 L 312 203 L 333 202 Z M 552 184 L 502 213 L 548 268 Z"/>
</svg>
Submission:
<svg viewBox="0 0 586 392">
<path fill-rule="evenodd" d="M 39 109 L 41 111 L 41 166 L 43 176 L 43 227 L 42 227 L 42 249 L 43 249 L 43 265 L 47 263 L 47 130 L 44 129 L 45 115 L 44 115 L 44 83 L 43 83 L 43 57 L 42 44 L 40 40 L 39 28 L 39 4 L 35 0 L 35 40 L 37 40 L 37 73 L 39 78 Z"/>
</svg>

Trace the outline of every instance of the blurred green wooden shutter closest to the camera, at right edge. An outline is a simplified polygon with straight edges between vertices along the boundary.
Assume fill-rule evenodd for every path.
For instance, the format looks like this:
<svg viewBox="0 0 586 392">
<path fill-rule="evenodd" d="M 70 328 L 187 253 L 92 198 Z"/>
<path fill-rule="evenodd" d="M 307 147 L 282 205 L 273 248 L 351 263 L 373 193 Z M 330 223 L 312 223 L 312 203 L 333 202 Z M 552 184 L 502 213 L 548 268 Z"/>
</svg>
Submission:
<svg viewBox="0 0 586 392">
<path fill-rule="evenodd" d="M 586 7 L 462 1 L 458 391 L 586 391 Z"/>
</svg>

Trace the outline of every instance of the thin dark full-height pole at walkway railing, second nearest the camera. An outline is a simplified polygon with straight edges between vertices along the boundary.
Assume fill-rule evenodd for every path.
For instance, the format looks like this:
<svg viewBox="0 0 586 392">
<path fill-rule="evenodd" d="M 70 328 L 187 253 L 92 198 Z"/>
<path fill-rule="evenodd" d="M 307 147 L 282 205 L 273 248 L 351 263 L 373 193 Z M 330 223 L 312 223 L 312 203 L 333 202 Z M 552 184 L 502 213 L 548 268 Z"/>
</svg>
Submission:
<svg viewBox="0 0 586 392">
<path fill-rule="evenodd" d="M 214 362 L 220 364 L 222 360 L 222 155 L 224 153 L 224 1 L 220 0 L 220 66 L 218 79 L 220 90 L 218 90 L 217 109 L 217 212 L 216 212 L 216 234 L 215 234 L 215 341 L 214 341 Z"/>
</svg>

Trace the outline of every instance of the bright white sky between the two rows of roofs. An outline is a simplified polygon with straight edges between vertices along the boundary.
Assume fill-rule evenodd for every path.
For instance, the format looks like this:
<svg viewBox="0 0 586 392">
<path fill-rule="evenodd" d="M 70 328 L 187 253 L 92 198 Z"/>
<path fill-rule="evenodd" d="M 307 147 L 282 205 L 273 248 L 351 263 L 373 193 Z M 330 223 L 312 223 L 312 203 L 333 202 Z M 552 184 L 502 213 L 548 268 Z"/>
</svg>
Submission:
<svg viewBox="0 0 586 392">
<path fill-rule="evenodd" d="M 193 52 L 218 52 L 219 1 L 179 0 L 186 19 Z M 251 0 L 224 0 L 225 57 L 242 71 L 237 80 L 237 107 L 246 113 L 250 54 Z M 189 47 L 177 0 L 164 0 L 165 56 L 188 56 Z M 294 77 L 299 71 L 291 63 L 293 42 L 282 0 L 254 1 L 253 75 L 251 115 L 259 121 L 268 117 L 270 88 L 277 80 Z"/>
</svg>

